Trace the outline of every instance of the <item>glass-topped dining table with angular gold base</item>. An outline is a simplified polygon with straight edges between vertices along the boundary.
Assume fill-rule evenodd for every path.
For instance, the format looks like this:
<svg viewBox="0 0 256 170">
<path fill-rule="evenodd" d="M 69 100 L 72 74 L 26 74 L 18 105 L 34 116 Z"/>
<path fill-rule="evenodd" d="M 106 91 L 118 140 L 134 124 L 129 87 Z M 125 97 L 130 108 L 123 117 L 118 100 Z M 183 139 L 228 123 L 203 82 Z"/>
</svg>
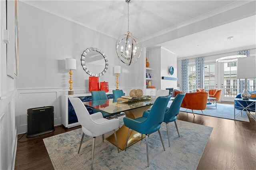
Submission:
<svg viewBox="0 0 256 170">
<path fill-rule="evenodd" d="M 171 98 L 173 100 L 174 98 Z M 99 101 L 88 101 L 83 102 L 85 106 L 91 107 L 93 109 L 97 109 L 99 112 L 104 111 L 111 115 L 117 115 L 120 112 L 124 112 L 125 116 L 130 119 L 136 119 L 138 117 L 142 117 L 143 112 L 147 111 L 156 100 L 155 96 L 145 97 L 142 99 L 130 100 L 130 101 L 117 101 L 114 99 L 106 99 Z M 121 150 L 125 149 L 126 138 L 128 134 L 128 127 L 122 125 L 117 131 L 116 136 L 118 140 L 118 147 Z M 142 140 L 145 135 L 140 134 L 134 130 L 129 131 L 129 139 L 128 146 L 133 145 L 134 143 Z M 106 138 L 110 143 L 116 146 L 116 140 L 114 138 L 114 134 L 108 136 Z"/>
</svg>

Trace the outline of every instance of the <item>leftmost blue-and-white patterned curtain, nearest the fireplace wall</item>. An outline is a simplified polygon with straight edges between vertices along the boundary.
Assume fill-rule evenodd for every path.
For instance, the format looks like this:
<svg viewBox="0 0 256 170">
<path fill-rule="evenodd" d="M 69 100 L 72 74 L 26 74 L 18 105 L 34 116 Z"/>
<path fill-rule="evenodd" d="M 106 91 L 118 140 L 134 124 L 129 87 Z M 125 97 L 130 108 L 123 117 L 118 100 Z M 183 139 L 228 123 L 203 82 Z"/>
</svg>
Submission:
<svg viewBox="0 0 256 170">
<path fill-rule="evenodd" d="M 181 91 L 188 92 L 188 59 L 181 61 Z"/>
</svg>

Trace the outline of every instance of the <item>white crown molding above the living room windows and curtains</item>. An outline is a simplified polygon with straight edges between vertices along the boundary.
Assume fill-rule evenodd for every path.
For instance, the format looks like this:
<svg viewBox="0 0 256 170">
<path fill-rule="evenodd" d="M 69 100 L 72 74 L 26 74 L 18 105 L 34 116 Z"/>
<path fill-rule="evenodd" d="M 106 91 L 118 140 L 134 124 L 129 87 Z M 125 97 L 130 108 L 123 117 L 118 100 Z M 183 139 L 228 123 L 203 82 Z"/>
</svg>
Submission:
<svg viewBox="0 0 256 170">
<path fill-rule="evenodd" d="M 213 55 L 221 55 L 221 54 L 225 54 L 225 53 L 232 53 L 232 52 L 242 51 L 242 50 L 246 50 L 246 49 L 250 49 L 250 50 L 256 49 L 256 45 L 246 46 L 246 47 L 238 47 L 238 48 L 233 48 L 233 49 L 228 49 L 228 50 L 223 50 L 223 51 L 216 51 L 216 52 L 212 52 L 212 53 L 192 55 L 192 56 L 188 56 L 188 57 L 177 57 L 177 60 L 194 59 L 194 58 L 197 58 L 197 57 L 209 57 L 209 56 L 213 56 Z"/>
</svg>

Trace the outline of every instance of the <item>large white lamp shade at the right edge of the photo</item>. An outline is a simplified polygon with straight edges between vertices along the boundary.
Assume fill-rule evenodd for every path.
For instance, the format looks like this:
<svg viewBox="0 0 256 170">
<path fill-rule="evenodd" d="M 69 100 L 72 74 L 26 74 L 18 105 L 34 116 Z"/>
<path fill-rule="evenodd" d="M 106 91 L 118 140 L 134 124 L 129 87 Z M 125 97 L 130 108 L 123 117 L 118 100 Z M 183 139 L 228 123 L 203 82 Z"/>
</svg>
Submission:
<svg viewBox="0 0 256 170">
<path fill-rule="evenodd" d="M 256 57 L 238 58 L 237 61 L 237 79 L 256 78 Z"/>
</svg>

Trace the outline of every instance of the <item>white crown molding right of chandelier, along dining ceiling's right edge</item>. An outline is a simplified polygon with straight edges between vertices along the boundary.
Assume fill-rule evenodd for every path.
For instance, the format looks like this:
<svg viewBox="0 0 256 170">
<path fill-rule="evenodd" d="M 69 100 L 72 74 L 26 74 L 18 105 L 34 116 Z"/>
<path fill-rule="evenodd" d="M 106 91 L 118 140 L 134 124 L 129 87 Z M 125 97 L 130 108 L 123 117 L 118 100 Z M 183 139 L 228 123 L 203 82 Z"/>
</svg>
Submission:
<svg viewBox="0 0 256 170">
<path fill-rule="evenodd" d="M 179 28 L 182 28 L 182 27 L 184 27 L 184 26 L 188 26 L 188 25 L 190 25 L 190 24 L 193 24 L 193 23 L 199 22 L 199 21 L 201 21 L 201 20 L 210 18 L 210 17 L 212 17 L 212 16 L 215 16 L 215 15 L 217 15 L 217 14 L 226 12 L 226 11 L 228 11 L 228 10 L 232 10 L 232 9 L 234 9 L 234 8 L 237 8 L 237 7 L 242 6 L 242 5 L 244 5 L 244 4 L 248 4 L 248 3 L 250 3 L 250 2 L 253 2 L 253 1 L 238 0 L 238 1 L 236 1 L 236 2 L 233 2 L 233 3 L 231 3 L 231 4 L 228 4 L 228 5 L 226 5 L 226 6 L 222 6 L 222 7 L 220 7 L 220 8 L 217 8 L 217 9 L 213 10 L 213 11 L 207 12 L 206 14 L 202 14 L 202 15 L 200 15 L 200 16 L 197 16 L 197 17 L 195 17 L 195 18 L 192 18 L 192 19 L 190 19 L 190 20 L 187 20 L 187 21 L 185 21 L 185 22 L 182 22 L 182 23 L 180 23 L 180 24 L 177 24 L 177 25 L 175 25 L 175 26 L 173 26 L 173 27 L 166 28 L 166 29 L 164 29 L 164 30 L 162 30 L 162 31 L 159 31 L 159 32 L 156 32 L 156 33 L 151 34 L 151 35 L 149 35 L 149 36 L 146 36 L 146 37 L 144 37 L 144 38 L 141 38 L 141 39 L 140 39 L 140 42 L 144 42 L 144 41 L 146 41 L 146 40 L 150 40 L 150 39 L 155 38 L 155 37 L 157 37 L 157 36 L 166 34 L 166 33 L 168 33 L 168 32 L 171 32 L 171 31 L 174 31 L 174 30 L 178 30 Z"/>
</svg>

